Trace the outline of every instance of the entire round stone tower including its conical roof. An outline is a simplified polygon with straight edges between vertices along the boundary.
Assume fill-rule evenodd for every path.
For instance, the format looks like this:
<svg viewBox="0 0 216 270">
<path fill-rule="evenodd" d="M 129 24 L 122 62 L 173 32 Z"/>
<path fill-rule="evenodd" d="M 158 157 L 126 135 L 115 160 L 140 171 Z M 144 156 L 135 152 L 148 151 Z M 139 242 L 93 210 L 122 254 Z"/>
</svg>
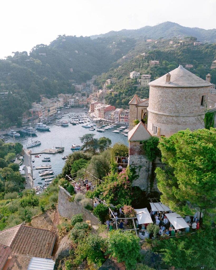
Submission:
<svg viewBox="0 0 216 270">
<path fill-rule="evenodd" d="M 208 76 L 208 75 L 207 75 Z M 204 128 L 205 97 L 211 83 L 181 65 L 149 83 L 147 129 L 154 136 Z"/>
</svg>

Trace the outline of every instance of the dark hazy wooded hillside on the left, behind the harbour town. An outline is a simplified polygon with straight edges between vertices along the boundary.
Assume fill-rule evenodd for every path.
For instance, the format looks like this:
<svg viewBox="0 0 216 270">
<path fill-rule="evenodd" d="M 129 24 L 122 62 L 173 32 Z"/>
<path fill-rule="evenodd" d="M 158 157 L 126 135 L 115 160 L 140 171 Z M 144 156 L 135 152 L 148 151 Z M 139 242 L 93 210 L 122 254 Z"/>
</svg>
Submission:
<svg viewBox="0 0 216 270">
<path fill-rule="evenodd" d="M 0 60 L 0 92 L 9 92 L 6 99 L 0 99 L 0 126 L 16 123 L 40 94 L 74 93 L 69 80 L 79 84 L 107 72 L 134 44 L 134 39 L 122 42 L 121 37 L 59 36 L 49 46 L 36 45 L 30 55 L 14 52 L 13 57 Z"/>
</svg>

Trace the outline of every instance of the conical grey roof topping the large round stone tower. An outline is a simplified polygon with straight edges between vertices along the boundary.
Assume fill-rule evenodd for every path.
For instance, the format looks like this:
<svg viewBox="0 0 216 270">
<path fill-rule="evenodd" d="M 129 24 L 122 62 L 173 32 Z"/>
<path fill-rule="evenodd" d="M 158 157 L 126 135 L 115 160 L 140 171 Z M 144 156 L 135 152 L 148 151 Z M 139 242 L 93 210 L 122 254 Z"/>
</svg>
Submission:
<svg viewBox="0 0 216 270">
<path fill-rule="evenodd" d="M 171 75 L 170 82 L 166 82 L 168 74 Z M 211 86 L 211 83 L 206 82 L 180 65 L 164 76 L 150 82 L 149 85 L 162 87 L 204 87 Z"/>
</svg>

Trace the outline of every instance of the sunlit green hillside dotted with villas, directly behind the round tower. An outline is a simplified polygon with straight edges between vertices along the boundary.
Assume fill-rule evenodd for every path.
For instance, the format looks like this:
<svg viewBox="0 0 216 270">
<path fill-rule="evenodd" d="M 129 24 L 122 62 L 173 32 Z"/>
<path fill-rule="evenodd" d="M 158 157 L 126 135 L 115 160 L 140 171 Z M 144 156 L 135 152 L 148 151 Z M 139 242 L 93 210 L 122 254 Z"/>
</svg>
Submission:
<svg viewBox="0 0 216 270">
<path fill-rule="evenodd" d="M 141 55 L 142 53 L 145 55 Z M 111 68 L 109 72 L 103 73 L 97 78 L 96 83 L 102 86 L 106 79 L 117 78 L 116 83 L 109 86 L 115 93 L 110 93 L 105 97 L 106 103 L 117 107 L 127 106 L 134 94 L 141 98 L 149 97 L 148 86 L 137 85 L 136 79 L 130 79 L 129 73 L 133 70 L 140 74 L 150 74 L 151 80 L 155 80 L 177 68 L 179 64 L 183 66 L 192 64 L 194 67 L 190 69 L 191 72 L 202 79 L 210 73 L 211 82 L 216 84 L 216 70 L 210 69 L 214 59 L 216 59 L 215 43 L 193 46 L 192 40 L 179 43 L 177 39 L 173 39 L 173 44 L 169 45 L 169 40 L 166 39 L 158 39 L 157 43 L 140 39 L 126 58 L 119 59 L 115 63 L 114 66 L 118 68 Z M 151 60 L 158 60 L 160 64 L 150 66 Z"/>
</svg>

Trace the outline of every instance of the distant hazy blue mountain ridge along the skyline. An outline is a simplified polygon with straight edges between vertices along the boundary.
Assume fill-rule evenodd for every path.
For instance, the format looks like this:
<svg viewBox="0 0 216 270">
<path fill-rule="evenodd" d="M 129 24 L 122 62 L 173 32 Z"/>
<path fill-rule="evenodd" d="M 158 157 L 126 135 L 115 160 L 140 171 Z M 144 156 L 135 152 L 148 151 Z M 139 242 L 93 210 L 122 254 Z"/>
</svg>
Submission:
<svg viewBox="0 0 216 270">
<path fill-rule="evenodd" d="M 91 39 L 98 37 L 110 37 L 110 36 L 125 36 L 127 38 L 144 37 L 147 39 L 158 39 L 158 38 L 173 38 L 177 36 L 179 38 L 184 36 L 194 36 L 200 42 L 216 42 L 216 29 L 203 29 L 198 27 L 185 27 L 175 22 L 163 22 L 154 26 L 144 26 L 139 29 L 122 29 L 120 31 L 110 31 L 100 35 L 92 35 Z"/>
</svg>

